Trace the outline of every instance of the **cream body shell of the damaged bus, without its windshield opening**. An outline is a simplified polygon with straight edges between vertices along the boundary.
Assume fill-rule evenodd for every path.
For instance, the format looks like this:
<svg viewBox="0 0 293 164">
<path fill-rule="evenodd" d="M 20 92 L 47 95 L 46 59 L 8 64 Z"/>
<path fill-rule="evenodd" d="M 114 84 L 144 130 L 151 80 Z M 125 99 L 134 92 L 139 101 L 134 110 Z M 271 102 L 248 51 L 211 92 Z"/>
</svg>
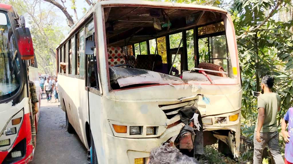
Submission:
<svg viewBox="0 0 293 164">
<path fill-rule="evenodd" d="M 147 76 L 137 75 L 127 79 L 127 77 L 121 78 L 119 70 L 111 68 L 111 70 L 117 71 L 117 74 L 114 75 L 120 76 L 118 80 L 120 88 L 114 88 L 112 86 L 112 76 L 114 75 L 108 71 L 110 66 L 108 65 L 107 46 L 109 45 L 107 43 L 110 41 L 106 39 L 108 33 L 105 32 L 107 26 L 105 21 L 111 19 L 109 15 L 111 15 L 112 9 L 123 6 L 125 8 L 130 6 L 194 10 L 219 14 L 221 21 L 224 22 L 227 53 L 229 53 L 227 61 L 229 60 L 231 64 L 229 78 L 211 76 L 213 81 L 211 84 L 212 82 L 210 83 L 208 80 L 192 80 L 195 75 L 204 78 L 198 73 L 184 72 L 183 80 L 178 80 L 178 78 L 166 80 L 166 78 L 162 78 L 161 74 L 147 71 L 145 73 Z M 115 15 L 115 13 L 113 14 Z M 90 27 L 91 21 L 94 22 L 93 27 Z M 195 25 L 188 28 L 193 27 L 197 28 Z M 94 34 L 88 35 L 87 32 L 91 30 Z M 95 41 L 94 55 L 98 57 L 96 62 L 98 85 L 96 88 L 90 86 L 91 79 L 88 78 L 90 76 L 88 73 L 90 64 L 88 63 L 92 63 L 94 60 L 87 60 L 87 55 L 84 55 L 86 38 L 91 36 L 94 38 L 88 40 Z M 158 34 L 158 36 L 152 37 L 160 36 Z M 113 42 L 110 45 L 115 44 Z M 79 48 L 76 48 L 76 45 Z M 64 56 L 64 54 L 66 55 Z M 79 62 L 76 62 L 78 60 Z M 231 17 L 226 11 L 193 4 L 134 0 L 100 1 L 91 6 L 86 15 L 71 29 L 68 37 L 57 47 L 57 62 L 66 63 L 65 71 L 58 64 L 62 110 L 66 112 L 69 124 L 72 125 L 87 149 L 92 146 L 92 136 L 98 163 L 134 164 L 136 158 L 144 158 L 143 160 L 146 161 L 153 148 L 161 146 L 171 137 L 178 135 L 183 127 L 177 113 L 174 117 L 168 118 L 168 114 L 164 111 L 174 109 L 173 113 L 178 112 L 177 109 L 186 105 L 194 105 L 201 113 L 204 124 L 204 144 L 213 144 L 219 139 L 229 145 L 231 154 L 235 159 L 238 158 L 242 90 L 234 27 Z M 151 79 L 149 85 L 146 82 L 148 76 L 153 77 L 149 78 Z M 191 80 L 184 81 L 187 76 L 190 76 Z M 156 82 L 156 80 L 161 82 Z M 132 86 L 133 83 L 141 85 L 127 87 Z M 220 118 L 225 118 L 225 121 Z M 232 121 L 230 121 L 231 119 Z M 127 131 L 125 133 L 116 132 L 113 125 L 127 126 Z M 131 126 L 139 126 L 141 133 L 130 135 Z M 153 135 L 146 134 L 147 127 L 155 127 Z"/>
</svg>

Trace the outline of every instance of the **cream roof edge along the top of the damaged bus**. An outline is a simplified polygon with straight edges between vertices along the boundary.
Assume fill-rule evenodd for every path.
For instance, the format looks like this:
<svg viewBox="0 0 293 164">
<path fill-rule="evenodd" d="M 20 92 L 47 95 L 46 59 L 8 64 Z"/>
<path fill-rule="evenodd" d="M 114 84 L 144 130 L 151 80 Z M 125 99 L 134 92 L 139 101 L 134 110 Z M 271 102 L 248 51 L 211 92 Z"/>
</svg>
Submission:
<svg viewBox="0 0 293 164">
<path fill-rule="evenodd" d="M 213 6 L 196 5 L 196 4 L 181 4 L 181 3 L 171 3 L 171 2 L 160 2 L 160 1 L 142 1 L 142 0 L 100 0 L 96 4 L 91 5 L 87 12 L 82 18 L 76 22 L 69 30 L 68 35 L 64 40 L 56 47 L 58 49 L 64 42 L 71 37 L 71 35 L 87 20 L 87 18 L 96 10 L 97 6 L 102 7 L 115 7 L 115 6 L 136 6 L 136 7 L 152 7 L 152 8 L 177 8 L 177 9 L 192 9 L 192 10 L 205 10 L 212 12 L 219 12 L 227 14 L 227 11 Z"/>
</svg>

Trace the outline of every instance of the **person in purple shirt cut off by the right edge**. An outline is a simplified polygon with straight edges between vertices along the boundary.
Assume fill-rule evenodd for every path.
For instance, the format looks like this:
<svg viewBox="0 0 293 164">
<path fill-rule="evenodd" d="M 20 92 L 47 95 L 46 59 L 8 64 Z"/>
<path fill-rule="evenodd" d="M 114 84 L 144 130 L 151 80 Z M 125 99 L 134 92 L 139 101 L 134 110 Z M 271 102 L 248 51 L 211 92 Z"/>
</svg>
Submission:
<svg viewBox="0 0 293 164">
<path fill-rule="evenodd" d="M 289 124 L 288 131 L 286 131 L 287 124 Z M 293 164 L 293 107 L 289 108 L 282 120 L 282 135 L 287 143 L 285 146 L 285 164 Z"/>
</svg>

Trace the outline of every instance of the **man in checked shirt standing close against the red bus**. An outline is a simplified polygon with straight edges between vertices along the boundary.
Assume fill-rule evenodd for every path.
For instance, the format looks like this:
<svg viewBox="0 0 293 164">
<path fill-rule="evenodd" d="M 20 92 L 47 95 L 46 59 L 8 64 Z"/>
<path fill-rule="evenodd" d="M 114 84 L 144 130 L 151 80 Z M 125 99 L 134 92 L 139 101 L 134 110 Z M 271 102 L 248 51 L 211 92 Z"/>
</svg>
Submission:
<svg viewBox="0 0 293 164">
<path fill-rule="evenodd" d="M 29 69 L 28 69 L 29 73 Z M 31 131 L 32 131 L 32 144 L 33 148 L 35 148 L 35 136 L 36 136 L 36 127 L 35 127 L 35 115 L 38 113 L 38 96 L 37 96 L 37 91 L 36 91 L 36 86 L 35 83 L 32 81 L 28 81 L 28 86 L 29 86 L 29 92 L 30 92 L 30 101 L 32 104 L 32 110 L 33 110 L 33 116 L 30 120 L 30 126 L 31 126 Z"/>
</svg>

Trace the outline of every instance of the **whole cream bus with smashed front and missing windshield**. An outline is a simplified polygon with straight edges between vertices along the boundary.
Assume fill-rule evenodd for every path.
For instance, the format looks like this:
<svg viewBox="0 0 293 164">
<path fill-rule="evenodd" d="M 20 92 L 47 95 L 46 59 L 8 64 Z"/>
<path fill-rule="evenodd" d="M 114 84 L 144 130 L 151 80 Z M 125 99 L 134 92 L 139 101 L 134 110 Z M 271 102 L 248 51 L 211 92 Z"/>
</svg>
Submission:
<svg viewBox="0 0 293 164">
<path fill-rule="evenodd" d="M 57 47 L 57 61 L 68 132 L 79 135 L 91 163 L 146 163 L 153 148 L 185 126 L 183 108 L 199 114 L 194 154 L 218 142 L 237 160 L 242 90 L 226 11 L 99 1 Z"/>
</svg>

